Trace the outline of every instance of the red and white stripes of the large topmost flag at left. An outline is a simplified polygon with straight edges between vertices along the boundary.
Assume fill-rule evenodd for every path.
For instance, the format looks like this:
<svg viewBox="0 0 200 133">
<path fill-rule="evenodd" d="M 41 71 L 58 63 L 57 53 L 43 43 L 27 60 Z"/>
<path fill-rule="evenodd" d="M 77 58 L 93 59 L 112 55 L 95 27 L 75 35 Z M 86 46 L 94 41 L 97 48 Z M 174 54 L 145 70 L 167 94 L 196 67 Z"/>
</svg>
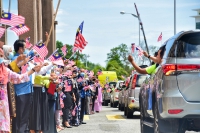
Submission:
<svg viewBox="0 0 200 133">
<path fill-rule="evenodd" d="M 0 18 L 0 23 L 10 26 L 16 26 L 19 24 L 25 24 L 25 18 L 23 16 L 15 15 L 11 13 L 11 19 Z"/>
</svg>

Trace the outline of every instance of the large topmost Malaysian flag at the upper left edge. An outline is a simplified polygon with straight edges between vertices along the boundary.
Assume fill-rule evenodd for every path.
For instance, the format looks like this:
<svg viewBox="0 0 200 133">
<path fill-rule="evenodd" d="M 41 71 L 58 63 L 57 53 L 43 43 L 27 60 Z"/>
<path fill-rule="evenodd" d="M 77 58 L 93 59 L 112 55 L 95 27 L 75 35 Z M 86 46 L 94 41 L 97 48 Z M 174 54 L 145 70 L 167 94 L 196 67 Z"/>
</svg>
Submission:
<svg viewBox="0 0 200 133">
<path fill-rule="evenodd" d="M 4 12 L 2 18 L 0 18 L 0 23 L 10 26 L 16 26 L 19 24 L 25 24 L 25 18 L 12 13 Z"/>
</svg>

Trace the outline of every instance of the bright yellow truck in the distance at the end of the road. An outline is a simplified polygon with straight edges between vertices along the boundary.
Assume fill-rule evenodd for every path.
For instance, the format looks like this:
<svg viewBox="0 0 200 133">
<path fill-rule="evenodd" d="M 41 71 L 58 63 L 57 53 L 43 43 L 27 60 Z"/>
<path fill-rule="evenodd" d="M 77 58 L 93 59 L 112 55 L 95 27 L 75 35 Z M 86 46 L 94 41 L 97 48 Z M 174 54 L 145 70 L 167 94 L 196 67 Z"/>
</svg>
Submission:
<svg viewBox="0 0 200 133">
<path fill-rule="evenodd" d="M 106 83 L 117 82 L 117 74 L 115 71 L 102 71 L 102 74 L 98 75 L 98 80 L 103 87 Z"/>
</svg>

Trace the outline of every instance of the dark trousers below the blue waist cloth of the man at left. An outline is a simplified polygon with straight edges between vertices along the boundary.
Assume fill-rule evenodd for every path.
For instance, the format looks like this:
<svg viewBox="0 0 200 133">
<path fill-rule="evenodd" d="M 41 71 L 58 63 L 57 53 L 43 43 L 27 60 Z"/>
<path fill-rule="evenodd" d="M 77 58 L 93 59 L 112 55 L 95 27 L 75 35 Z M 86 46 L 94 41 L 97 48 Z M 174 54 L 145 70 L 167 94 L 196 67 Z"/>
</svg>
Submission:
<svg viewBox="0 0 200 133">
<path fill-rule="evenodd" d="M 15 96 L 16 117 L 12 120 L 12 133 L 24 133 L 28 126 L 32 94 Z"/>
</svg>

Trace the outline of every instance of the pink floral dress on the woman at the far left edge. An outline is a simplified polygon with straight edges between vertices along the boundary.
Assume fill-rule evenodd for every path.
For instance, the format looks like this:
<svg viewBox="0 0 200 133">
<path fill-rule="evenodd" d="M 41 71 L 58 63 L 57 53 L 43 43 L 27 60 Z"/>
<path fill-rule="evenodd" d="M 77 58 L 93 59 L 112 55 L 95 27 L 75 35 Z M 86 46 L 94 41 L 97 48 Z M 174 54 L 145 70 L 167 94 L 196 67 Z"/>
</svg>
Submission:
<svg viewBox="0 0 200 133">
<path fill-rule="evenodd" d="M 29 81 L 27 73 L 17 74 L 9 69 L 8 81 L 13 84 L 19 84 Z M 10 113 L 8 105 L 7 84 L 0 85 L 0 90 L 4 91 L 4 98 L 0 100 L 0 133 L 10 133 Z"/>
</svg>

